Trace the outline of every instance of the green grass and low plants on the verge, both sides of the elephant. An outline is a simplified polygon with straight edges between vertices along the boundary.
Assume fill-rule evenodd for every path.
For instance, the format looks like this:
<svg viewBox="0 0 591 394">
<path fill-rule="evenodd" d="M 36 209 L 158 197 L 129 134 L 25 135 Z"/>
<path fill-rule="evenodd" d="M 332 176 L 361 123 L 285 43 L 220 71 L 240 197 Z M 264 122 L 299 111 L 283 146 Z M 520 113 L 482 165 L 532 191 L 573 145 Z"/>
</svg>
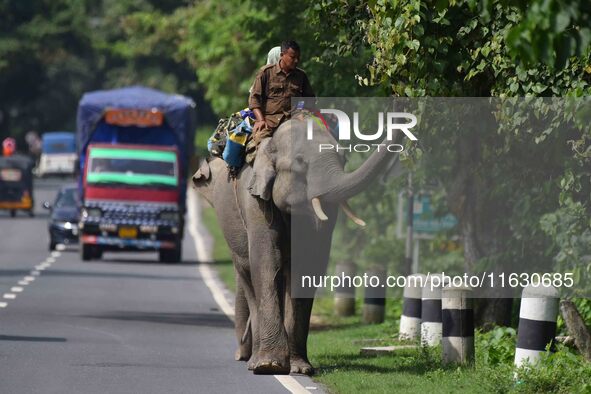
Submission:
<svg viewBox="0 0 591 394">
<path fill-rule="evenodd" d="M 216 240 L 214 258 L 222 281 L 235 290 L 230 253 L 213 208 L 205 208 L 203 220 Z M 381 356 L 360 354 L 364 346 L 399 344 L 401 302 L 388 299 L 386 322 L 361 323 L 362 300 L 356 300 L 356 316 L 333 314 L 329 297 L 317 298 L 308 352 L 317 368 L 314 380 L 331 393 L 591 393 L 591 363 L 563 346 L 544 358 L 537 368 L 519 371 L 514 379 L 515 330 L 497 328 L 476 334 L 473 368 L 442 367 L 441 348 L 404 350 Z"/>
</svg>

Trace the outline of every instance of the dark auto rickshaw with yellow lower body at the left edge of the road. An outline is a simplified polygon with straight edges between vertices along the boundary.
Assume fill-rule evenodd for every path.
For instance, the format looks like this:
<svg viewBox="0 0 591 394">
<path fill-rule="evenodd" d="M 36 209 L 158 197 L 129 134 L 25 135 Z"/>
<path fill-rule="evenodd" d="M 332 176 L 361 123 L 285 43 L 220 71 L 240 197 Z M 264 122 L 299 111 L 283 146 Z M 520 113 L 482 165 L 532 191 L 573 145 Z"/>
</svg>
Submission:
<svg viewBox="0 0 591 394">
<path fill-rule="evenodd" d="M 34 216 L 33 160 L 23 155 L 0 156 L 0 209 L 17 210 Z"/>
</svg>

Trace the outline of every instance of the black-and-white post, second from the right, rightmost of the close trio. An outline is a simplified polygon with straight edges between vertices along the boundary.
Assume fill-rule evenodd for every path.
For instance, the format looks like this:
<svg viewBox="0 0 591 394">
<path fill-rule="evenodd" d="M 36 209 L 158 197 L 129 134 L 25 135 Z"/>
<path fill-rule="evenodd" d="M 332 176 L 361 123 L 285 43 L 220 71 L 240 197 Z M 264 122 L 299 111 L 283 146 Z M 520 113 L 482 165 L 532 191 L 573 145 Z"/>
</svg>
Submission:
<svg viewBox="0 0 591 394">
<path fill-rule="evenodd" d="M 474 364 L 472 289 L 446 286 L 441 300 L 442 360 L 444 364 Z"/>
</svg>

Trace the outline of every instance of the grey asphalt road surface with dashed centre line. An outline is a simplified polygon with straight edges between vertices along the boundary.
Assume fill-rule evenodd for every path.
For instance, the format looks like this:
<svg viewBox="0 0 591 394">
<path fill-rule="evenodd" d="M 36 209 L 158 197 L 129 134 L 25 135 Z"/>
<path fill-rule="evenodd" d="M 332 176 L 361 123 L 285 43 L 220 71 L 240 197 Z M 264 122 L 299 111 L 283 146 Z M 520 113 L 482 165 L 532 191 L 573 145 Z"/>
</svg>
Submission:
<svg viewBox="0 0 591 394">
<path fill-rule="evenodd" d="M 41 204 L 63 183 L 37 181 L 34 218 L 0 212 L 0 393 L 289 392 L 234 361 L 232 322 L 188 231 L 176 265 L 156 253 L 52 256 Z"/>
</svg>

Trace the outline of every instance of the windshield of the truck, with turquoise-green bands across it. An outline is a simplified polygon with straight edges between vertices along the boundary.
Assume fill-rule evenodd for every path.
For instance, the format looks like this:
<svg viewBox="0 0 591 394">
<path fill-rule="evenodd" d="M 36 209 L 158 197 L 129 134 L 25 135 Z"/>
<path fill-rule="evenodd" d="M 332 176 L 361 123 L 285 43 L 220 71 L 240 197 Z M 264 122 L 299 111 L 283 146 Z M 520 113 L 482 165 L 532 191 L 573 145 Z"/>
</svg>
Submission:
<svg viewBox="0 0 591 394">
<path fill-rule="evenodd" d="M 178 186 L 176 153 L 147 149 L 94 148 L 89 155 L 88 183 Z"/>
</svg>

